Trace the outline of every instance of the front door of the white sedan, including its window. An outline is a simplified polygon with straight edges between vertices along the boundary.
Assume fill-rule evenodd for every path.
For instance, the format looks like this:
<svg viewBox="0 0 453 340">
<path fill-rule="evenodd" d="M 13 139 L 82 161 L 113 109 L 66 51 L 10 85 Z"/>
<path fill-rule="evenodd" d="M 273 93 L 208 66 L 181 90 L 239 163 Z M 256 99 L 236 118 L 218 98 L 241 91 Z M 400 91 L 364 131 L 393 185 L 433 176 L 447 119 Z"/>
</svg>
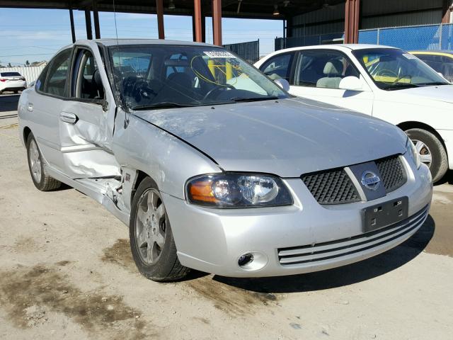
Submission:
<svg viewBox="0 0 453 340">
<path fill-rule="evenodd" d="M 345 77 L 357 77 L 362 89 L 340 89 Z M 289 93 L 372 115 L 373 92 L 354 64 L 338 50 L 300 50 L 294 57 Z"/>
</svg>

